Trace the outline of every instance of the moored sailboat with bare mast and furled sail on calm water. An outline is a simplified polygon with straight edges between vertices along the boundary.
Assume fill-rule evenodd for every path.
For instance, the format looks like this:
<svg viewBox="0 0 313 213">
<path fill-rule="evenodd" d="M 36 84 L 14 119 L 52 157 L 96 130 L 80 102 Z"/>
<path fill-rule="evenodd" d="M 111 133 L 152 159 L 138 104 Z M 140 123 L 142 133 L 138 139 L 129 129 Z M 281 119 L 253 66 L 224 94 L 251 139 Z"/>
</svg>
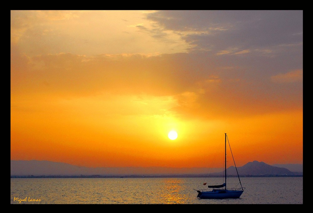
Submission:
<svg viewBox="0 0 313 213">
<path fill-rule="evenodd" d="M 228 198 L 239 198 L 241 196 L 241 194 L 244 192 L 245 187 L 242 187 L 241 182 L 240 182 L 240 178 L 239 178 L 239 174 L 237 171 L 237 167 L 236 167 L 236 171 L 237 171 L 237 175 L 238 175 L 238 179 L 239 179 L 239 183 L 241 188 L 234 188 L 234 189 L 228 189 L 226 187 L 226 133 L 225 133 L 225 183 L 221 184 L 221 185 L 212 185 L 212 186 L 208 186 L 208 188 L 213 188 L 212 191 L 205 191 L 205 190 L 196 190 L 198 192 L 197 197 L 200 199 L 228 199 Z M 229 144 L 229 141 L 228 141 Z M 230 146 L 229 146 L 230 148 Z M 231 149 L 230 149 L 231 151 Z M 232 153 L 233 155 L 233 153 Z M 235 161 L 234 161 L 235 163 Z M 204 184 L 203 184 L 204 185 Z"/>
</svg>

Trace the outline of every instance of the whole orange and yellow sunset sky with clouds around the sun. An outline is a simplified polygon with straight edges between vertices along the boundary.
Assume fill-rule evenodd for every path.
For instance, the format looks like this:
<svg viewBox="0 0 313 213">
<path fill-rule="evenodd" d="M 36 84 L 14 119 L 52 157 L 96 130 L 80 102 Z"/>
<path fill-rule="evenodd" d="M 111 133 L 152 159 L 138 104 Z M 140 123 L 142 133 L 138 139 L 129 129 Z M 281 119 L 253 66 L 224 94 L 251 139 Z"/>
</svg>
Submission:
<svg viewBox="0 0 313 213">
<path fill-rule="evenodd" d="M 224 133 L 303 163 L 303 11 L 11 11 L 11 160 L 223 167 Z"/>
</svg>

